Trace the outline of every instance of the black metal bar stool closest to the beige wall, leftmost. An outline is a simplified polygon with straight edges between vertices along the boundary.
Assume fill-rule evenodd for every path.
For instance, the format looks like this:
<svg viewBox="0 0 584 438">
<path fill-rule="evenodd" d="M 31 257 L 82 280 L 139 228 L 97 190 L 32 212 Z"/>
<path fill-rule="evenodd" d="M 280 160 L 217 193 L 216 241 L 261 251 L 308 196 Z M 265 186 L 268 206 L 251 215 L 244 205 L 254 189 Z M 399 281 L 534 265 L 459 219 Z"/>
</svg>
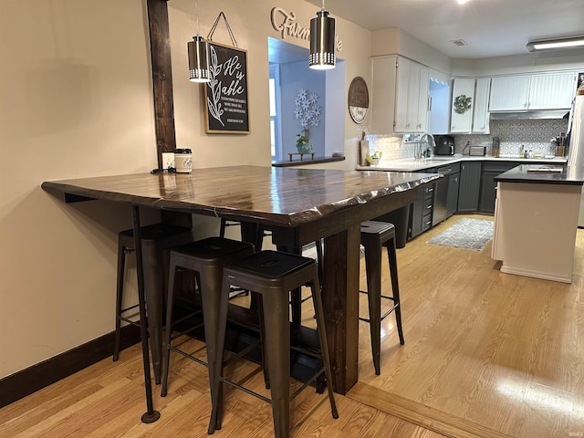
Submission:
<svg viewBox="0 0 584 438">
<path fill-rule="evenodd" d="M 161 380 L 162 368 L 162 303 L 165 290 L 166 267 L 163 251 L 176 245 L 193 242 L 193 230 L 173 224 L 151 224 L 142 226 L 141 242 L 144 254 L 145 283 L 149 285 L 151 293 L 147 293 L 147 300 L 151 308 L 160 308 L 161 312 L 151 312 L 148 316 L 149 336 L 151 337 L 152 361 L 154 375 L 157 382 Z M 113 349 L 113 360 L 120 358 L 120 329 L 121 321 L 140 326 L 138 304 L 128 308 L 123 306 L 124 273 L 126 256 L 133 253 L 134 232 L 132 229 L 121 231 L 118 234 L 118 278 L 116 289 L 116 328 Z M 133 313 L 130 313 L 133 310 Z M 160 314 L 158 314 L 160 313 Z"/>
</svg>

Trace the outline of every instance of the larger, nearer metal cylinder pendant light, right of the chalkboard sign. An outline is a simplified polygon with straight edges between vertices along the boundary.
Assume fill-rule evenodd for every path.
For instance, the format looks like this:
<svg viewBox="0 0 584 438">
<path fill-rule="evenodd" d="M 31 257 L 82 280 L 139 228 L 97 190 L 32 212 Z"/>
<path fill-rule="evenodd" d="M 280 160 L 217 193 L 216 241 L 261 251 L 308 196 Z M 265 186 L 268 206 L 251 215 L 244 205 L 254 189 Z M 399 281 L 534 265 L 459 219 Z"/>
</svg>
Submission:
<svg viewBox="0 0 584 438">
<path fill-rule="evenodd" d="M 316 70 L 335 68 L 335 19 L 328 16 L 325 0 L 317 16 L 310 20 L 310 56 L 308 67 Z"/>
</svg>

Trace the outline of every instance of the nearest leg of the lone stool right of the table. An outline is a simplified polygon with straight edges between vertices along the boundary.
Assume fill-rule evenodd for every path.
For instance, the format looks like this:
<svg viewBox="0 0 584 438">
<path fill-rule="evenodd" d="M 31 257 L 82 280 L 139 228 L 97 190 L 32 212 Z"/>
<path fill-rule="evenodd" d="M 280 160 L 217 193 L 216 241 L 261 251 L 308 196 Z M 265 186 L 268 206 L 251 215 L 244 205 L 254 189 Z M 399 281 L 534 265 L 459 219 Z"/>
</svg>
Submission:
<svg viewBox="0 0 584 438">
<path fill-rule="evenodd" d="M 380 374 L 381 355 L 381 244 L 375 240 L 365 246 L 367 297 L 369 302 L 371 352 L 375 374 Z"/>
</svg>

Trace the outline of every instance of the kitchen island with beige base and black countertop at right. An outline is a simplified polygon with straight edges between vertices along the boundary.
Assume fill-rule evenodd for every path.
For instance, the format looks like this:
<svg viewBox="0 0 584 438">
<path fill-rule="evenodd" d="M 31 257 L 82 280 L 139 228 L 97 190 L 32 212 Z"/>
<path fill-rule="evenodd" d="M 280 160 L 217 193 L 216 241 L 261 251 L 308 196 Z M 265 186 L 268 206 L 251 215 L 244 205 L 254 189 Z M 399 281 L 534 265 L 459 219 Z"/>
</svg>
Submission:
<svg viewBox="0 0 584 438">
<path fill-rule="evenodd" d="M 495 182 L 492 257 L 501 272 L 571 283 L 584 174 L 522 164 Z"/>
</svg>

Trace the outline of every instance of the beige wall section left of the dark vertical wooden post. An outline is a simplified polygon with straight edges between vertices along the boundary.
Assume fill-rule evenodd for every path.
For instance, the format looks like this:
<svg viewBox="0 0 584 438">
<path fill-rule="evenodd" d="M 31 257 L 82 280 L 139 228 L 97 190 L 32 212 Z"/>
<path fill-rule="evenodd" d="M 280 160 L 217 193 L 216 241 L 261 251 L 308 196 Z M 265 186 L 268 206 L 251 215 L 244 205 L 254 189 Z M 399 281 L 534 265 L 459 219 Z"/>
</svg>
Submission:
<svg viewBox="0 0 584 438">
<path fill-rule="evenodd" d="M 130 208 L 66 205 L 40 184 L 156 166 L 142 3 L 0 6 L 0 377 L 113 328 Z"/>
</svg>

